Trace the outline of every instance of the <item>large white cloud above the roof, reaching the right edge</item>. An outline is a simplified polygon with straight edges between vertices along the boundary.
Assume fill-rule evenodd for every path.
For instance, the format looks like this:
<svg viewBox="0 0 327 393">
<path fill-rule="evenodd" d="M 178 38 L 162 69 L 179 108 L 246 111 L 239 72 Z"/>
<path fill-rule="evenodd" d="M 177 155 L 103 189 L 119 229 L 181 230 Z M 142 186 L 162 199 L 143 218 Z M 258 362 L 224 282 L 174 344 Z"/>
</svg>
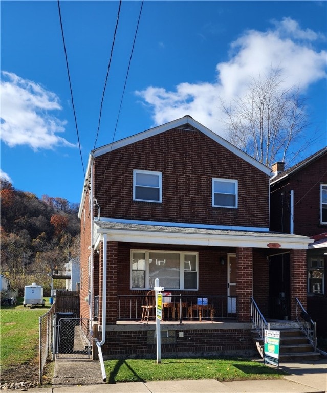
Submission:
<svg viewBox="0 0 327 393">
<path fill-rule="evenodd" d="M 155 124 L 190 115 L 224 137 L 224 116 L 220 99 L 229 103 L 242 96 L 253 77 L 282 70 L 285 88 L 298 85 L 305 90 L 326 78 L 326 51 L 315 50 L 313 41 L 321 34 L 302 30 L 290 18 L 273 21 L 274 29 L 266 32 L 248 30 L 230 45 L 229 60 L 216 65 L 214 83 L 180 83 L 175 91 L 149 86 L 136 92 L 153 110 Z"/>
</svg>

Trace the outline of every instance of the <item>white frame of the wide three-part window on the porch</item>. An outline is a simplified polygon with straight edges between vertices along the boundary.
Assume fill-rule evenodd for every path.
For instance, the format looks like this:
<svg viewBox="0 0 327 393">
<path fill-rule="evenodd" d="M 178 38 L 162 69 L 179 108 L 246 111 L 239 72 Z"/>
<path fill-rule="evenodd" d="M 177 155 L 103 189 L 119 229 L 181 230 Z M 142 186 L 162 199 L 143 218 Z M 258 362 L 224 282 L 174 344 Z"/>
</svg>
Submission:
<svg viewBox="0 0 327 393">
<path fill-rule="evenodd" d="M 149 254 L 153 252 L 160 252 L 165 254 L 180 254 L 180 288 L 166 288 L 165 290 L 177 291 L 177 290 L 186 290 L 186 291 L 198 291 L 199 288 L 199 253 L 195 251 L 166 251 L 166 250 L 139 250 L 133 249 L 130 250 L 130 267 L 129 267 L 129 287 L 132 290 L 150 290 L 153 288 L 148 287 L 149 283 Z M 144 253 L 145 254 L 145 286 L 144 288 L 136 288 L 132 287 L 132 270 L 133 270 L 133 253 Z M 184 288 L 184 272 L 185 272 L 185 255 L 195 255 L 195 266 L 197 273 L 197 286 L 196 288 Z M 161 285 L 161 283 L 160 283 Z"/>
</svg>

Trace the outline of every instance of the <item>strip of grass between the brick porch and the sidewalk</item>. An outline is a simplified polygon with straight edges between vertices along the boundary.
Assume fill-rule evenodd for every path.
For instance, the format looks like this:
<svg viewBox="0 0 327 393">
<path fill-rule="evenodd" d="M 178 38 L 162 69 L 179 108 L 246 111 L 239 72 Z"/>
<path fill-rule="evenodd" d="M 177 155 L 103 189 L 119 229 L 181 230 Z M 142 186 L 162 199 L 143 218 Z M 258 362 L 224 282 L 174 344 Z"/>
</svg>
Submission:
<svg viewBox="0 0 327 393">
<path fill-rule="evenodd" d="M 127 359 L 104 362 L 108 383 L 216 379 L 240 381 L 278 379 L 284 373 L 256 361 L 241 358 L 188 358 L 156 360 Z"/>
</svg>

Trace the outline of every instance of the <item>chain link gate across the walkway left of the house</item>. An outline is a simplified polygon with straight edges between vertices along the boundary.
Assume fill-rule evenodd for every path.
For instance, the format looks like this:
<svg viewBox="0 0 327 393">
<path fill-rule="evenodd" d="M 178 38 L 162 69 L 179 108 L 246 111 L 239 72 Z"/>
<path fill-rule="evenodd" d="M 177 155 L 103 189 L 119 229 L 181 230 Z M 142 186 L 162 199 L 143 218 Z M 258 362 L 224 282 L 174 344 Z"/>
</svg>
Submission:
<svg viewBox="0 0 327 393">
<path fill-rule="evenodd" d="M 90 319 L 75 318 L 74 313 L 56 313 L 53 325 L 53 360 L 90 359 Z"/>
</svg>

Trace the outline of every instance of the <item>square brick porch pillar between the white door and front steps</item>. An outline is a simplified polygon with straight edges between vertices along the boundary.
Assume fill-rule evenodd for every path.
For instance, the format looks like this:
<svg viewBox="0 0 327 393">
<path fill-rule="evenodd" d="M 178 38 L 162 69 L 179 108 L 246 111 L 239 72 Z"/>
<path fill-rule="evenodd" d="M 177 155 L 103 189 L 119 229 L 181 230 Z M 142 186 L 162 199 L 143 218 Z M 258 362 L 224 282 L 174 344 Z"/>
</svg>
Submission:
<svg viewBox="0 0 327 393">
<path fill-rule="evenodd" d="M 253 285 L 252 248 L 236 248 L 236 294 L 238 295 L 238 320 L 250 321 L 250 298 Z"/>
</svg>

